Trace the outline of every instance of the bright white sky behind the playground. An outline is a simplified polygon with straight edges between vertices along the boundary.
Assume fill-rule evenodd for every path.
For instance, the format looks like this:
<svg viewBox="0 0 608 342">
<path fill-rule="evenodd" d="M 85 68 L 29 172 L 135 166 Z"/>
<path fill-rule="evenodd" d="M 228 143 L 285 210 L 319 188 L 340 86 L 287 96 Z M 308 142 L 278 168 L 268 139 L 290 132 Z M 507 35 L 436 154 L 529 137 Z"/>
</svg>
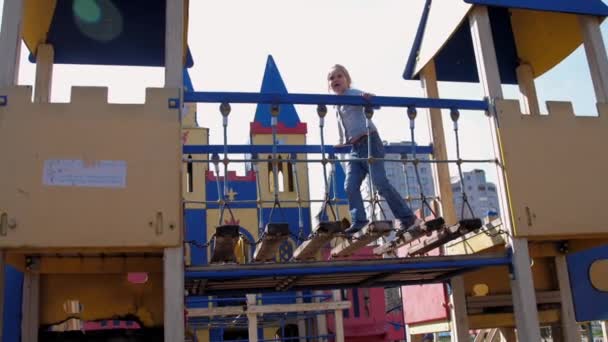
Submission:
<svg viewBox="0 0 608 342">
<path fill-rule="evenodd" d="M 0 0 L 0 8 L 4 0 Z M 266 58 L 272 54 L 290 92 L 327 93 L 328 68 L 344 64 L 354 86 L 387 96 L 422 96 L 417 81 L 401 77 L 418 26 L 424 0 L 222 0 L 190 1 L 188 43 L 195 65 L 190 70 L 200 91 L 259 91 Z M 606 25 L 602 27 L 606 37 Z M 33 84 L 34 65 L 22 49 L 20 84 Z M 573 56 L 537 80 L 541 102 L 573 101 L 581 114 L 595 115 L 593 88 L 579 48 Z M 160 68 L 127 68 L 57 65 L 54 69 L 53 101 L 69 101 L 73 85 L 108 86 L 111 102 L 143 102 L 145 87 L 163 85 Z M 506 96 L 517 97 L 514 87 Z M 474 84 L 440 84 L 446 98 L 480 99 L 481 87 Z M 544 108 L 544 104 L 541 104 Z M 308 122 L 309 143 L 318 143 L 315 108 L 297 107 Z M 217 105 L 199 105 L 199 123 L 211 128 L 211 143 L 221 143 L 221 121 Z M 246 143 L 254 107 L 233 106 L 230 143 Z M 422 115 L 421 115 L 422 116 Z M 374 122 L 388 141 L 409 140 L 404 110 L 384 108 Z M 454 154 L 451 124 L 446 116 L 446 138 L 450 157 Z M 334 142 L 333 120 L 328 143 Z M 428 143 L 428 128 L 418 122 L 416 139 Z M 463 157 L 491 157 L 487 119 L 482 113 L 463 113 Z M 466 169 L 482 167 L 469 165 Z M 490 170 L 487 167 L 482 167 Z M 312 167 L 311 169 L 315 169 Z M 488 172 L 490 180 L 495 179 Z M 311 192 L 321 185 L 311 182 Z"/>
</svg>

